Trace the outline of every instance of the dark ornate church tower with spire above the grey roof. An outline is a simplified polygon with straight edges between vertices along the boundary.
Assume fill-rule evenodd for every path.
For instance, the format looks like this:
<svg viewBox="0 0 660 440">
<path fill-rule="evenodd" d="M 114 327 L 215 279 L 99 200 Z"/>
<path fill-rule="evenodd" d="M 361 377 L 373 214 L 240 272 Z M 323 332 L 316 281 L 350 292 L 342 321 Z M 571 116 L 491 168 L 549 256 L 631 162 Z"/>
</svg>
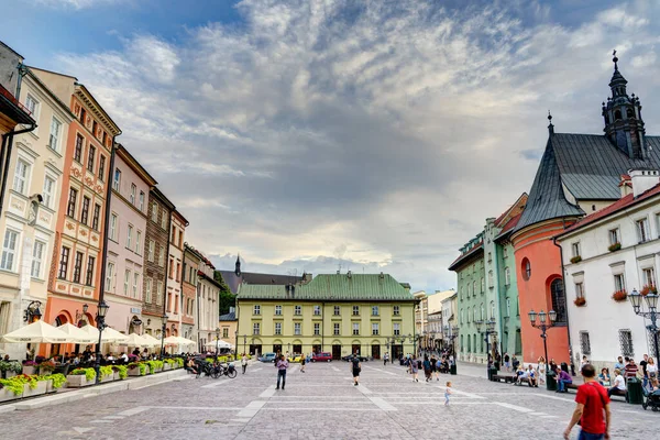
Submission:
<svg viewBox="0 0 660 440">
<path fill-rule="evenodd" d="M 635 94 L 628 96 L 626 85 L 628 81 L 618 69 L 618 58 L 614 51 L 614 74 L 609 81 L 612 97 L 607 98 L 607 103 L 603 102 L 603 118 L 605 120 L 605 135 L 623 153 L 630 158 L 641 158 L 646 156 L 645 129 L 641 119 L 641 105 L 639 97 Z"/>
</svg>

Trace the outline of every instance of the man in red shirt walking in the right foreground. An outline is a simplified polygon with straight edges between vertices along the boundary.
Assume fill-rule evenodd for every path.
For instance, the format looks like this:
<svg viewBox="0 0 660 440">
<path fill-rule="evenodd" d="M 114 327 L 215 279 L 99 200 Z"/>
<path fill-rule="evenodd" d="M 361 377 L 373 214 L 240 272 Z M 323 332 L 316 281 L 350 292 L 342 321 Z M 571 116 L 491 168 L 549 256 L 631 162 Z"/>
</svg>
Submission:
<svg viewBox="0 0 660 440">
<path fill-rule="evenodd" d="M 603 386 L 595 380 L 596 370 L 592 364 L 582 366 L 584 385 L 578 388 L 575 396 L 575 411 L 564 431 L 564 439 L 569 439 L 571 429 L 581 422 L 579 440 L 609 439 L 609 397 Z M 603 418 L 603 411 L 605 417 Z"/>
</svg>

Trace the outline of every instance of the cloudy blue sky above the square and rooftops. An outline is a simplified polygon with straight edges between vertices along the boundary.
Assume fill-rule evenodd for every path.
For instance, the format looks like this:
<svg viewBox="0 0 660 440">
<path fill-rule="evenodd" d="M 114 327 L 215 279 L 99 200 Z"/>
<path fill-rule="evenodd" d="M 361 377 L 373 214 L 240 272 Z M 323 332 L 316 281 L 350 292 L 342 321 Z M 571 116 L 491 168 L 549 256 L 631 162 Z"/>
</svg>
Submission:
<svg viewBox="0 0 660 440">
<path fill-rule="evenodd" d="M 76 76 L 222 268 L 453 287 L 558 132 L 602 133 L 617 48 L 660 121 L 656 0 L 0 0 L 1 38 Z"/>
</svg>

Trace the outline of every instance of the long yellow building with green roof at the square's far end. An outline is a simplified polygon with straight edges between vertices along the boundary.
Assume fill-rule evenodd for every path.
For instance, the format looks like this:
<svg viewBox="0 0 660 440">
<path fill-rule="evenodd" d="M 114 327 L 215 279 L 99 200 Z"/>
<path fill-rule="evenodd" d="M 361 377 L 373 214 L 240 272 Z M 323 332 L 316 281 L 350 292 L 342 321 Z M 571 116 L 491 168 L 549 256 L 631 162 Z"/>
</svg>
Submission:
<svg viewBox="0 0 660 440">
<path fill-rule="evenodd" d="M 290 286 L 241 285 L 237 351 L 330 352 L 391 359 L 413 352 L 415 297 L 385 274 L 317 275 Z"/>
</svg>

